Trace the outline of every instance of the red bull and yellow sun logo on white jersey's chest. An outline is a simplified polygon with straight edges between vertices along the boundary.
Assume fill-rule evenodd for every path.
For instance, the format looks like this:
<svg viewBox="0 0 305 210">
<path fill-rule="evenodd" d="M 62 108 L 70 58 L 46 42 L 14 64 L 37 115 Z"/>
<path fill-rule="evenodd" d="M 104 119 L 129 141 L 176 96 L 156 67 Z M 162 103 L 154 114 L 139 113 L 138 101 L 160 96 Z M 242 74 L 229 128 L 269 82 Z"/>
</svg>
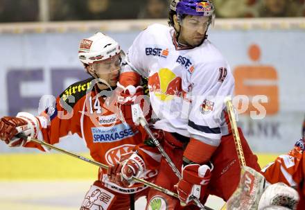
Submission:
<svg viewBox="0 0 305 210">
<path fill-rule="evenodd" d="M 160 69 L 148 78 L 148 88 L 159 100 L 173 100 L 182 94 L 182 80 L 170 69 Z"/>
</svg>

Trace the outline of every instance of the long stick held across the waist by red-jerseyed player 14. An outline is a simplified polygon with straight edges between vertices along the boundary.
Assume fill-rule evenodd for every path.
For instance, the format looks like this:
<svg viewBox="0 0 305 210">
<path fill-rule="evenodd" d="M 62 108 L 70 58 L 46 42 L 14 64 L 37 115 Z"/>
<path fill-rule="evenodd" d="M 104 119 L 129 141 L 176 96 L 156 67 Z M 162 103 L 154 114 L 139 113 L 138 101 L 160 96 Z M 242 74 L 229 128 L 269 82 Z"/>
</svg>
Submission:
<svg viewBox="0 0 305 210">
<path fill-rule="evenodd" d="M 70 156 L 72 156 L 72 157 L 76 157 L 77 159 L 81 159 L 82 161 L 86 161 L 86 162 L 89 163 L 89 164 L 94 164 L 94 165 L 99 166 L 99 167 L 101 167 L 101 168 L 108 169 L 108 166 L 105 165 L 105 164 L 101 164 L 101 163 L 99 163 L 98 161 L 94 161 L 93 159 L 89 159 L 89 158 L 87 158 L 87 157 L 83 157 L 83 156 L 78 155 L 78 154 L 76 154 L 76 153 L 69 152 L 69 151 L 67 151 L 67 150 L 63 150 L 62 148 L 58 148 L 58 147 L 56 147 L 56 146 L 51 145 L 50 143 L 46 143 L 46 142 L 41 141 L 41 140 L 39 140 L 39 139 L 34 139 L 34 138 L 31 138 L 31 137 L 28 137 L 28 136 L 26 136 L 26 135 L 25 135 L 24 133 L 22 133 L 22 132 L 19 133 L 19 134 L 17 134 L 17 137 L 22 138 L 22 139 L 26 139 L 27 141 L 33 141 L 33 142 L 35 142 L 35 143 L 39 143 L 40 145 L 46 146 L 46 147 L 51 148 L 51 149 L 53 149 L 53 150 L 57 150 L 58 152 L 62 152 L 62 153 L 64 153 L 64 154 L 66 154 L 66 155 L 70 155 Z M 162 186 L 158 186 L 158 185 L 156 185 L 156 184 L 153 184 L 153 183 L 148 182 L 148 181 L 146 181 L 146 180 L 142 180 L 142 179 L 137 178 L 137 177 L 132 177 L 132 180 L 137 181 L 137 182 L 140 182 L 140 183 L 142 183 L 142 184 L 144 184 L 144 185 L 146 185 L 146 186 L 149 186 L 149 187 L 151 187 L 151 188 L 153 188 L 153 189 L 155 189 L 155 190 L 157 190 L 157 191 L 160 191 L 160 192 L 162 192 L 162 193 L 166 193 L 167 195 L 171 195 L 171 196 L 173 196 L 173 197 L 175 197 L 175 198 L 179 198 L 178 195 L 177 195 L 177 193 L 173 193 L 172 191 L 169 191 L 168 189 L 165 189 L 165 188 L 163 188 Z"/>
</svg>

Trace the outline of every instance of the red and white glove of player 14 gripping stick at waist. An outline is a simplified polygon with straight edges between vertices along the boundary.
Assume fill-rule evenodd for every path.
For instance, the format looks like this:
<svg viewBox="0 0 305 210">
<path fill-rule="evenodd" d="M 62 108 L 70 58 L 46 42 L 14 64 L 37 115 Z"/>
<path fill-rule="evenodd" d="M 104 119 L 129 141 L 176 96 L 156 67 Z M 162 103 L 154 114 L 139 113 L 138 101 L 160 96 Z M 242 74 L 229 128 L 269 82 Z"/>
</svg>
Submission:
<svg viewBox="0 0 305 210">
<path fill-rule="evenodd" d="M 145 171 L 143 159 L 137 152 L 129 152 L 121 156 L 118 164 L 110 166 L 107 174 L 111 182 L 120 186 L 132 186 L 132 177 L 142 177 Z"/>
</svg>

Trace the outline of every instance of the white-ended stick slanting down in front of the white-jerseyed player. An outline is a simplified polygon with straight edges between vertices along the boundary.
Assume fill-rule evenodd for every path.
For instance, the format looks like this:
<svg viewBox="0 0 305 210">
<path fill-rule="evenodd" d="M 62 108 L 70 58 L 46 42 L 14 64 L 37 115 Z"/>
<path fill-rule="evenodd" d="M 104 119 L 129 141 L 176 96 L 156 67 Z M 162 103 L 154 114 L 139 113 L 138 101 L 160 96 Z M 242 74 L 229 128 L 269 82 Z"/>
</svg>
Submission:
<svg viewBox="0 0 305 210">
<path fill-rule="evenodd" d="M 166 159 L 168 165 L 171 166 L 175 175 L 177 175 L 179 180 L 181 180 L 182 175 L 180 174 L 180 171 L 177 169 L 177 167 L 175 166 L 175 164 L 173 163 L 171 158 L 164 151 L 164 148 L 160 145 L 159 141 L 155 138 L 155 136 L 153 135 L 153 132 L 151 132 L 150 128 L 148 127 L 148 123 L 143 115 L 143 111 L 141 110 L 141 107 L 139 106 L 139 104 L 132 105 L 132 120 L 134 121 L 134 123 L 141 124 L 141 126 L 146 130 L 150 139 L 153 140 L 153 143 L 155 144 L 155 146 L 157 146 L 159 152 L 161 152 L 161 155 Z M 200 200 L 198 198 L 196 198 L 194 196 L 192 196 L 191 198 L 194 200 L 195 204 L 200 209 L 204 210 L 204 205 L 200 202 Z"/>
</svg>

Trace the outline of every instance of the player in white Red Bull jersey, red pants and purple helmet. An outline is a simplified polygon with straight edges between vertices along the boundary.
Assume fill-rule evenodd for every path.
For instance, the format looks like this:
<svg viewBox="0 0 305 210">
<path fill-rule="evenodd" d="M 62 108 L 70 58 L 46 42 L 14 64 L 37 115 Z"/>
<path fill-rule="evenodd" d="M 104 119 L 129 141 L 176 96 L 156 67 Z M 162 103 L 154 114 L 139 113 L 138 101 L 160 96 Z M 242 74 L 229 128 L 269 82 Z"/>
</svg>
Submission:
<svg viewBox="0 0 305 210">
<path fill-rule="evenodd" d="M 164 132 L 164 150 L 182 174 L 179 180 L 162 158 L 155 183 L 179 194 L 179 200 L 150 190 L 147 209 L 195 209 L 191 196 L 209 194 L 227 200 L 241 174 L 224 98 L 232 96 L 234 78 L 223 55 L 207 39 L 214 6 L 207 0 L 174 0 L 170 26 L 153 24 L 128 50 L 119 85 L 141 85 L 148 78 L 154 127 Z M 118 85 L 118 86 L 119 86 Z M 239 130 L 247 166 L 260 170 Z M 124 171 L 121 171 L 124 177 Z"/>
</svg>

